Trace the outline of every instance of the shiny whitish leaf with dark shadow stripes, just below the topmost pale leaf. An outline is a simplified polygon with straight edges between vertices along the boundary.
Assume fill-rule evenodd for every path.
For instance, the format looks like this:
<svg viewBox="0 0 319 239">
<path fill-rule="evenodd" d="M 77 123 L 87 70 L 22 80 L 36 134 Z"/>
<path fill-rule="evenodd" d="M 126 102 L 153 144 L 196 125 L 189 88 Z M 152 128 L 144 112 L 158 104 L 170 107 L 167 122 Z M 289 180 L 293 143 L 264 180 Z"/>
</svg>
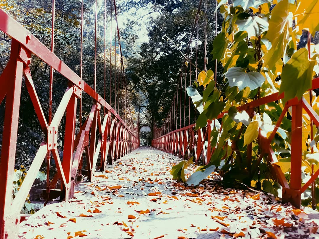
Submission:
<svg viewBox="0 0 319 239">
<path fill-rule="evenodd" d="M 237 20 L 239 31 L 246 31 L 248 38 L 254 36 L 259 37 L 263 32 L 268 31 L 269 23 L 265 20 L 266 18 L 249 17 L 242 20 Z"/>
</svg>

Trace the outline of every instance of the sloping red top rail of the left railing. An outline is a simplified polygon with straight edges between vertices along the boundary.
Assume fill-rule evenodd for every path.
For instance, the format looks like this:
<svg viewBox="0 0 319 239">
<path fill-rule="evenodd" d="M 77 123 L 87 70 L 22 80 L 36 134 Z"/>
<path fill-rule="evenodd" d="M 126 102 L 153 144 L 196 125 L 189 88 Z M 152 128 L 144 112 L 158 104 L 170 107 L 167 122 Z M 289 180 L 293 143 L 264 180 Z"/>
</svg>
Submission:
<svg viewBox="0 0 319 239">
<path fill-rule="evenodd" d="M 57 72 L 65 76 L 70 82 L 90 95 L 100 105 L 104 106 L 111 112 L 119 122 L 121 122 L 129 131 L 130 128 L 121 119 L 118 113 L 89 86 L 84 80 L 80 78 L 73 70 L 71 70 L 63 61 L 61 61 L 54 53 L 52 53 L 46 46 L 44 46 L 32 33 L 24 28 L 19 22 L 13 19 L 9 14 L 0 9 L 0 30 L 11 38 L 17 40 L 30 52 L 41 58 L 49 66 L 52 66 Z M 134 127 L 134 126 L 133 126 Z M 132 135 L 134 135 L 132 133 Z M 136 135 L 134 135 L 136 137 Z"/>
</svg>

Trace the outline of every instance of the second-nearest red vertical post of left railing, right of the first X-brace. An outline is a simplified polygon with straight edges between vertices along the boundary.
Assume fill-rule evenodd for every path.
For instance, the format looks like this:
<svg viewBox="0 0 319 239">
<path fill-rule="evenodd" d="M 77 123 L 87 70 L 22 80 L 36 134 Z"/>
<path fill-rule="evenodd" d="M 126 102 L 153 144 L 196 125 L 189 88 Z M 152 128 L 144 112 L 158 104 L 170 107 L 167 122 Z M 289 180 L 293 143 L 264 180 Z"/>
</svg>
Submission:
<svg viewBox="0 0 319 239">
<path fill-rule="evenodd" d="M 62 167 L 66 179 L 66 192 L 65 200 L 69 200 L 74 192 L 74 178 L 71 178 L 71 169 L 73 163 L 74 151 L 74 132 L 75 132 L 75 119 L 77 113 L 77 98 L 73 94 L 66 107 L 66 121 L 65 121 L 65 136 L 64 136 L 64 150 Z"/>
</svg>

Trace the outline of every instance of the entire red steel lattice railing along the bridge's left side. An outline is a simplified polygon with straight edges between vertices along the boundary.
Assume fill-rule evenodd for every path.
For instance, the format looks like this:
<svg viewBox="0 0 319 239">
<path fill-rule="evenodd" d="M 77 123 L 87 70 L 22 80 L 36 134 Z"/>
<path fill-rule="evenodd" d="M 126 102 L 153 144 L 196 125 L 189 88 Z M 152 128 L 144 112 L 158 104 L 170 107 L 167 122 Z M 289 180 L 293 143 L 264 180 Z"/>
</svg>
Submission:
<svg viewBox="0 0 319 239">
<path fill-rule="evenodd" d="M 97 167 L 104 170 L 109 157 L 110 163 L 131 152 L 139 146 L 138 126 L 128 126 L 108 105 L 108 103 L 85 83 L 75 72 L 63 63 L 55 54 L 37 40 L 17 21 L 0 9 L 0 30 L 11 37 L 10 60 L 0 76 L 0 103 L 5 98 L 4 130 L 0 161 L 0 238 L 16 238 L 20 221 L 20 210 L 39 171 L 43 159 L 52 152 L 57 167 L 57 176 L 51 183 L 61 179 L 61 198 L 73 197 L 78 171 L 81 172 L 82 154 L 85 151 L 87 175 L 93 180 Z M 48 124 L 43 113 L 38 95 L 35 91 L 30 73 L 31 54 L 41 58 L 68 80 L 68 87 Z M 22 78 L 33 103 L 34 110 L 45 135 L 36 156 L 27 172 L 24 182 L 14 199 L 12 199 L 12 182 L 16 154 L 19 106 Z M 93 98 L 89 116 L 75 135 L 75 123 L 78 100 L 86 93 Z M 101 115 L 104 109 L 104 116 Z M 66 112 L 64 152 L 61 162 L 57 151 L 57 131 Z M 98 138 L 97 138 L 98 136 Z M 75 139 L 74 139 L 75 138 Z M 76 151 L 75 156 L 73 152 Z M 100 165 L 97 165 L 101 154 Z M 59 191 L 59 190 L 58 190 Z"/>
</svg>

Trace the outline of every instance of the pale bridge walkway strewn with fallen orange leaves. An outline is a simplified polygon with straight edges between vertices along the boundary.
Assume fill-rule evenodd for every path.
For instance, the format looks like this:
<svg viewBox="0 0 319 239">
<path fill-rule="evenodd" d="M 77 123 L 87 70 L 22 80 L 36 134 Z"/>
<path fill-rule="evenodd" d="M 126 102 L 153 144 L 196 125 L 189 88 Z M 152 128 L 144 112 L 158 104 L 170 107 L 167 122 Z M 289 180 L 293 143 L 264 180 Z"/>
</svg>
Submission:
<svg viewBox="0 0 319 239">
<path fill-rule="evenodd" d="M 69 202 L 45 206 L 19 227 L 19 238 L 316 238 L 318 214 L 294 209 L 252 188 L 221 186 L 215 173 L 197 187 L 172 180 L 181 158 L 140 147 Z M 195 169 L 189 167 L 185 176 Z M 187 172 L 187 173 L 186 173 Z"/>
</svg>

